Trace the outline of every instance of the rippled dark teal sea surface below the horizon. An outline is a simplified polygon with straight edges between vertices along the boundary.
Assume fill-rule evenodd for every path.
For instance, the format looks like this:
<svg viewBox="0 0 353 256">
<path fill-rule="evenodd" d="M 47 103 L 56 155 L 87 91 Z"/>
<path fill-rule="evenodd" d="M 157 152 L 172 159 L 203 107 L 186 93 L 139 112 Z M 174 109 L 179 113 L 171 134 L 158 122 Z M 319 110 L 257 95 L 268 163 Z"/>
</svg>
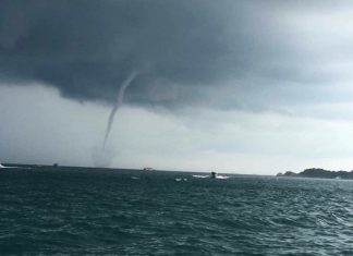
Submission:
<svg viewBox="0 0 353 256">
<path fill-rule="evenodd" d="M 353 181 L 0 171 L 1 255 L 353 255 Z"/>
</svg>

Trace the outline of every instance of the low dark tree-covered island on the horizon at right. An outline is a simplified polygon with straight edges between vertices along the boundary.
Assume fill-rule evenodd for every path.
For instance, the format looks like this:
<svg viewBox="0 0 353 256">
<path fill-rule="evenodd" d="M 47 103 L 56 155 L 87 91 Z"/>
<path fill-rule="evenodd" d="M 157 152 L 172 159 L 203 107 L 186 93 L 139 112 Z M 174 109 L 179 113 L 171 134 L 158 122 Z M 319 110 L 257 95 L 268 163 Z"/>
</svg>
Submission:
<svg viewBox="0 0 353 256">
<path fill-rule="evenodd" d="M 353 180 L 353 171 L 329 171 L 320 168 L 305 169 L 300 173 L 288 171 L 278 173 L 277 176 L 291 176 L 291 178 L 321 178 L 321 179 L 343 179 Z"/>
</svg>

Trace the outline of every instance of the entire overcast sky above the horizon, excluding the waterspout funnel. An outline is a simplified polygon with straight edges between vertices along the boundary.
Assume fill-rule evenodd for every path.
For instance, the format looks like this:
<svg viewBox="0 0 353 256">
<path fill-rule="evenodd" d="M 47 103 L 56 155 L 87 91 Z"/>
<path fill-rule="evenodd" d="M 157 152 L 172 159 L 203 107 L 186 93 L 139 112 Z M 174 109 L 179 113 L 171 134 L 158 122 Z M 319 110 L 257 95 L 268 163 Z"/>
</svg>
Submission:
<svg viewBox="0 0 353 256">
<path fill-rule="evenodd" d="M 352 24 L 339 0 L 2 0 L 0 161 L 352 170 Z"/>
</svg>

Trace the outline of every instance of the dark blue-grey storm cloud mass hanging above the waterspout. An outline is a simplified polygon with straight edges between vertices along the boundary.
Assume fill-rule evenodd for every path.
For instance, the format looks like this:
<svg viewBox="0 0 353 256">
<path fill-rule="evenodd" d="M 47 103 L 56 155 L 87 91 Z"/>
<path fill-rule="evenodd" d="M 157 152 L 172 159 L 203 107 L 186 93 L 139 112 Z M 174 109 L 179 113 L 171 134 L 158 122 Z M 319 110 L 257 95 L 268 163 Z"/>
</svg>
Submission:
<svg viewBox="0 0 353 256">
<path fill-rule="evenodd" d="M 320 1 L 320 9 L 334 2 Z M 249 75 L 321 81 L 297 71 L 295 38 L 276 20 L 281 10 L 302 8 L 301 1 L 2 0 L 0 78 L 42 82 L 78 100 L 113 100 L 137 70 L 129 100 L 163 105 L 197 102 L 203 88 Z"/>
</svg>

